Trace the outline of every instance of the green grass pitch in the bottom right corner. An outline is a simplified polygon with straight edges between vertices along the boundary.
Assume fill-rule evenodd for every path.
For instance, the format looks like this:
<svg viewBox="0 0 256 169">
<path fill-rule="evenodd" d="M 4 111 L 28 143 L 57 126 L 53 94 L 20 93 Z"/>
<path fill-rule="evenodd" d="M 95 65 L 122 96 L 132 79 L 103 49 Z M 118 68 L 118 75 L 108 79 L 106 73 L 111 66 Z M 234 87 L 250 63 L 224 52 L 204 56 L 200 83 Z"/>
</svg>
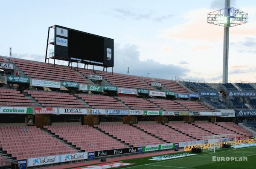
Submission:
<svg viewBox="0 0 256 169">
<path fill-rule="evenodd" d="M 212 161 L 216 157 L 247 157 L 247 161 Z M 154 161 L 147 158 L 122 160 L 135 163 L 119 169 L 256 169 L 256 146 L 240 149 L 222 149 L 216 153 L 201 153 L 194 156 L 170 160 Z"/>
</svg>

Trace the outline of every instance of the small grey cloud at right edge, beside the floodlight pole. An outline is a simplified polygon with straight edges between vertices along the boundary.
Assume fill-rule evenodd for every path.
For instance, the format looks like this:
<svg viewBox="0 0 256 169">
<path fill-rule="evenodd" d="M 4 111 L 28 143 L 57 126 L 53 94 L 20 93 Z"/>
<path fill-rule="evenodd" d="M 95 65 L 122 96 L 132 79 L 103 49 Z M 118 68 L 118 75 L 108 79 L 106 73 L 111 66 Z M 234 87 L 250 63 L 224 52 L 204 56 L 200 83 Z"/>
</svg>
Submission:
<svg viewBox="0 0 256 169">
<path fill-rule="evenodd" d="M 234 46 L 240 53 L 256 53 L 256 38 L 245 37 L 244 40 L 232 42 L 230 45 Z"/>
</svg>

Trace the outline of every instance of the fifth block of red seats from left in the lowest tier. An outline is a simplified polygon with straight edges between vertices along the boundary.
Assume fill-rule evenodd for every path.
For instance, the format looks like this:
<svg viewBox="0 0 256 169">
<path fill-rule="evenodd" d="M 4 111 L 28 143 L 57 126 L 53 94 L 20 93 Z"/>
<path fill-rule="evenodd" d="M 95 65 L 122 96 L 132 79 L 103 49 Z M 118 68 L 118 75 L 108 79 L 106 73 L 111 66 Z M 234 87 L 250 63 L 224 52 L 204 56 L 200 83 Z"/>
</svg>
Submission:
<svg viewBox="0 0 256 169">
<path fill-rule="evenodd" d="M 168 126 L 178 129 L 179 131 L 188 134 L 189 136 L 192 136 L 193 138 L 191 139 L 200 139 L 200 140 L 204 140 L 204 136 L 209 136 L 212 135 L 209 132 L 206 132 L 202 129 L 199 129 L 196 126 L 192 126 L 189 123 L 167 123 Z"/>
</svg>

